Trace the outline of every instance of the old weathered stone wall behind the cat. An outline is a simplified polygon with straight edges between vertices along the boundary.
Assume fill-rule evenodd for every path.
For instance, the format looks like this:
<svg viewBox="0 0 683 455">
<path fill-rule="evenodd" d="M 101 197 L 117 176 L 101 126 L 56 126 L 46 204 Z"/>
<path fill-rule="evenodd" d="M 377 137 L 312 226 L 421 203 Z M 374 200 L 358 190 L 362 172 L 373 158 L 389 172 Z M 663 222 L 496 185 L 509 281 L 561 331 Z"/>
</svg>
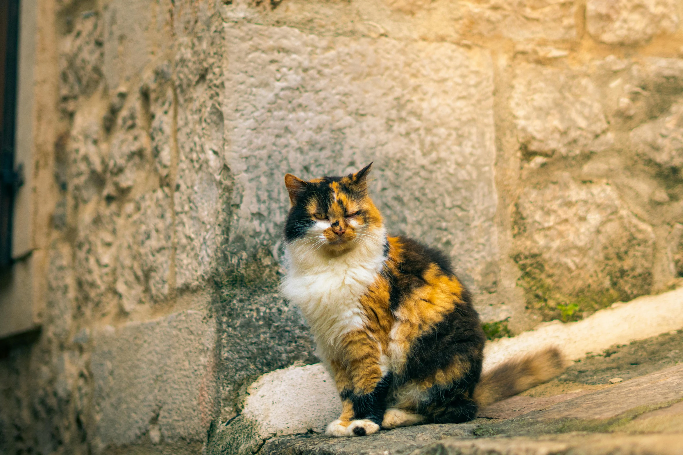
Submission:
<svg viewBox="0 0 683 455">
<path fill-rule="evenodd" d="M 0 359 L 3 451 L 199 453 L 315 363 L 288 172 L 374 161 L 389 229 L 512 332 L 683 276 L 683 1 L 38 5 L 43 325 Z"/>
</svg>

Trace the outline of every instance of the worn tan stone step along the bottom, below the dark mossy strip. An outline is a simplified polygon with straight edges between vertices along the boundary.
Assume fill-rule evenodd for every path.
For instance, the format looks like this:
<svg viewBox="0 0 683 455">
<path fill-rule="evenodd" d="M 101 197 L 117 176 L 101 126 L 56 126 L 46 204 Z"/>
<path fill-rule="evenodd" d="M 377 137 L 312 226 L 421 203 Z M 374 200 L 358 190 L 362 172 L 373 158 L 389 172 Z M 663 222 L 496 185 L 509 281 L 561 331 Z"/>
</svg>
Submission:
<svg viewBox="0 0 683 455">
<path fill-rule="evenodd" d="M 683 454 L 683 364 L 650 375 L 535 398 L 515 396 L 467 424 L 423 425 L 333 439 L 266 441 L 262 455 Z"/>
</svg>

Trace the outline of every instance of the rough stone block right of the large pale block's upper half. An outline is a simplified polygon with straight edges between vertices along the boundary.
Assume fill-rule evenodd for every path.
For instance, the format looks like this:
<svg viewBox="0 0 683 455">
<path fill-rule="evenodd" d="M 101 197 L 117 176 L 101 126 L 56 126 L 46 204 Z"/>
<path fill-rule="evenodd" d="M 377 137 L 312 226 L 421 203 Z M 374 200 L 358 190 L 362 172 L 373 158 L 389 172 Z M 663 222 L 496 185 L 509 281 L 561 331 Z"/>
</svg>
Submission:
<svg viewBox="0 0 683 455">
<path fill-rule="evenodd" d="M 613 143 L 598 87 L 584 72 L 518 63 L 510 108 L 529 155 L 576 156 Z"/>
</svg>

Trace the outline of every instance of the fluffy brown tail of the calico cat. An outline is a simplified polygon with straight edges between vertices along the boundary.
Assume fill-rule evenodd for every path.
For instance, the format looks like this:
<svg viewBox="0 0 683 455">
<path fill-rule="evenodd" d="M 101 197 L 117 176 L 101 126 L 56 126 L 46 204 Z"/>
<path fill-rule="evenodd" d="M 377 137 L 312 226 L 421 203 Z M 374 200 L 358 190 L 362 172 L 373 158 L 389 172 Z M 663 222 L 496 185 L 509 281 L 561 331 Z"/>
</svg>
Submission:
<svg viewBox="0 0 683 455">
<path fill-rule="evenodd" d="M 553 379 L 564 368 L 562 354 L 555 347 L 508 360 L 482 375 L 473 398 L 477 407 L 483 409 L 491 403 Z"/>
</svg>

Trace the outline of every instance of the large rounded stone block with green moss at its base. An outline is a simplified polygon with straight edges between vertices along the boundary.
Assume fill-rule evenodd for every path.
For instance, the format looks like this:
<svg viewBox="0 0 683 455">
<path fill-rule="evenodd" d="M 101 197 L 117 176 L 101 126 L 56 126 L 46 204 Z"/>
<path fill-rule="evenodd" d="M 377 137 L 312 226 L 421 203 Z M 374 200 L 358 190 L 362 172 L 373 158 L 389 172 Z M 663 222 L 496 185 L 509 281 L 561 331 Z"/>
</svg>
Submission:
<svg viewBox="0 0 683 455">
<path fill-rule="evenodd" d="M 555 179 L 525 189 L 518 201 L 515 259 L 527 305 L 566 319 L 648 293 L 652 227 L 607 182 L 580 184 L 568 174 Z"/>
</svg>

